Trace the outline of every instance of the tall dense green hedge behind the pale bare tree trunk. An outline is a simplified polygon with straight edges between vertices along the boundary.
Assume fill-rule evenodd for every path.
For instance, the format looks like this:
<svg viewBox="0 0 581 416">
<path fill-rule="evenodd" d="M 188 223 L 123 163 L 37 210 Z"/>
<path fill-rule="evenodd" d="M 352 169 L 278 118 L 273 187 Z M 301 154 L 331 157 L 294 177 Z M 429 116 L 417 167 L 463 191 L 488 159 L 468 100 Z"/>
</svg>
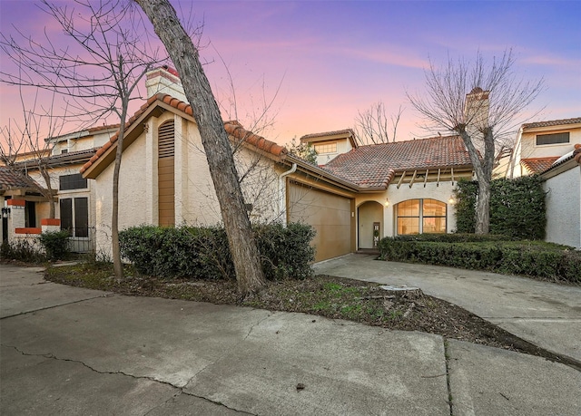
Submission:
<svg viewBox="0 0 581 416">
<path fill-rule="evenodd" d="M 478 182 L 459 181 L 456 227 L 473 233 Z M 545 238 L 545 191 L 538 176 L 495 179 L 490 184 L 490 233 L 518 239 Z"/>
</svg>

